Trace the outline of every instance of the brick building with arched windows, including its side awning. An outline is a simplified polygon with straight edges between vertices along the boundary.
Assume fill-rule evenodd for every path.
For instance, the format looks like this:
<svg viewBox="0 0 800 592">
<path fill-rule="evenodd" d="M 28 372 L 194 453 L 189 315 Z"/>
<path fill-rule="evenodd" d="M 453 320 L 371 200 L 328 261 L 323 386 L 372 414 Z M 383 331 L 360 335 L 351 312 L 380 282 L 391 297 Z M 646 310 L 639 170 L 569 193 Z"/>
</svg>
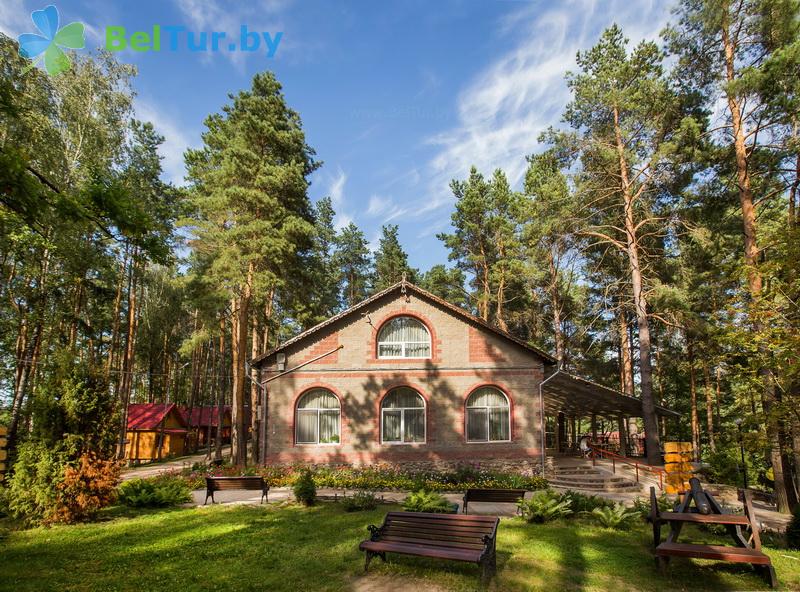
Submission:
<svg viewBox="0 0 800 592">
<path fill-rule="evenodd" d="M 253 365 L 267 463 L 521 468 L 543 462 L 543 447 L 574 446 L 578 417 L 596 430 L 598 416 L 622 425 L 641 413 L 637 399 L 556 371 L 548 353 L 407 282 Z"/>
</svg>

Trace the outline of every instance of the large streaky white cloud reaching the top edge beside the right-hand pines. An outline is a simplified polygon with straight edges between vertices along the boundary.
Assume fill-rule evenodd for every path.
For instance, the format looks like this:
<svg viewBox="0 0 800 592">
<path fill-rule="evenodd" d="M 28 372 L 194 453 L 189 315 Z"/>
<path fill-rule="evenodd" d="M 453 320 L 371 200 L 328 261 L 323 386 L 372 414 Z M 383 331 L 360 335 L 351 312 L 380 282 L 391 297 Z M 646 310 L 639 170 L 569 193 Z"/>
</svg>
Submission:
<svg viewBox="0 0 800 592">
<path fill-rule="evenodd" d="M 428 138 L 437 152 L 428 163 L 425 201 L 415 211 L 451 203 L 450 180 L 464 178 L 473 164 L 485 174 L 502 168 L 517 184 L 525 156 L 538 150 L 537 137 L 558 125 L 570 100 L 564 74 L 575 67 L 577 51 L 594 45 L 613 22 L 631 45 L 657 39 L 668 17 L 669 6 L 656 0 L 569 0 L 544 10 L 537 2 L 502 19 L 499 36 L 519 41 L 460 93 L 458 125 Z"/>
</svg>

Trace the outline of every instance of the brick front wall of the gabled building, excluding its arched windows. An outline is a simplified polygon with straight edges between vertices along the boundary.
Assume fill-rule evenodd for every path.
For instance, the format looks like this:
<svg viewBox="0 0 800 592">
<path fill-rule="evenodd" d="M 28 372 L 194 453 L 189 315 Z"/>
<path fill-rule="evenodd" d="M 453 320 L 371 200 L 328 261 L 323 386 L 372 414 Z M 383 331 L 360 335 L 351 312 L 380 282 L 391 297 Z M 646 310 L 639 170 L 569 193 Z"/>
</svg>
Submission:
<svg viewBox="0 0 800 592">
<path fill-rule="evenodd" d="M 400 314 L 414 316 L 429 328 L 430 359 L 376 359 L 378 330 Z M 406 297 L 395 292 L 340 319 L 318 336 L 287 348 L 286 368 L 338 345 L 343 348 L 335 354 L 269 383 L 268 462 L 364 465 L 497 461 L 524 466 L 538 461 L 538 385 L 543 364 L 536 354 L 435 302 L 414 293 Z M 263 378 L 274 375 L 276 368 L 270 364 L 267 361 L 264 366 Z M 484 385 L 495 386 L 509 398 L 510 442 L 466 442 L 466 400 Z M 411 387 L 425 399 L 425 443 L 381 443 L 380 401 L 398 386 Z M 340 401 L 338 444 L 295 443 L 296 401 L 316 387 L 329 389 Z"/>
</svg>

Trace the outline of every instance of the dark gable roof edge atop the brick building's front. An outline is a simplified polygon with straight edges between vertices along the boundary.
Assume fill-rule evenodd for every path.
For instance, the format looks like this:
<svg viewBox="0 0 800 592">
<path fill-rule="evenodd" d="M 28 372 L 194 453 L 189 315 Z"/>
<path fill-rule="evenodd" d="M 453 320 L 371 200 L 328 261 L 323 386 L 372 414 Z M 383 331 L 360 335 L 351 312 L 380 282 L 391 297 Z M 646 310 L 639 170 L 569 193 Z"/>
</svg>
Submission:
<svg viewBox="0 0 800 592">
<path fill-rule="evenodd" d="M 414 292 L 418 296 L 421 296 L 422 298 L 425 298 L 427 300 L 435 302 L 436 304 L 448 309 L 450 312 L 454 313 L 456 316 L 461 317 L 462 319 L 464 319 L 464 320 L 466 320 L 468 322 L 475 323 L 476 325 L 480 325 L 484 329 L 487 329 L 488 331 L 491 331 L 492 333 L 495 333 L 496 335 L 499 335 L 500 337 L 503 337 L 504 339 L 517 344 L 518 346 L 522 347 L 523 349 L 526 349 L 526 350 L 536 354 L 537 356 L 543 358 L 545 360 L 545 362 L 548 362 L 548 363 L 551 363 L 551 364 L 555 364 L 556 363 L 556 359 L 553 356 L 551 356 L 550 354 L 548 354 L 546 351 L 544 351 L 542 349 L 539 349 L 538 347 L 535 347 L 533 345 L 530 345 L 526 341 L 524 341 L 522 339 L 519 339 L 518 337 L 515 337 L 511 333 L 509 333 L 507 331 L 503 331 L 502 329 L 499 329 L 498 327 L 495 327 L 491 323 L 488 323 L 488 322 L 484 321 L 482 318 L 476 317 L 472 313 L 467 312 L 466 310 L 464 310 L 460 306 L 456 306 L 455 304 L 451 304 L 450 302 L 447 302 L 446 300 L 444 300 L 442 298 L 439 298 L 438 296 L 436 296 L 434 294 L 431 294 L 427 290 L 423 290 L 419 286 L 416 286 L 416 285 L 414 285 L 412 283 L 409 283 L 409 282 L 407 282 L 405 280 L 399 281 L 396 284 L 389 286 L 385 290 L 381 290 L 380 292 L 377 292 L 377 293 L 373 294 L 369 298 L 367 298 L 365 300 L 362 300 L 361 302 L 359 302 L 358 304 L 356 304 L 354 306 L 351 306 L 347 310 L 344 310 L 344 311 L 340 312 L 339 314 L 336 314 L 336 315 L 330 317 L 329 319 L 326 319 L 326 320 L 322 321 L 318 325 L 315 325 L 315 326 L 311 327 L 310 329 L 307 329 L 307 330 L 303 331 L 299 335 L 296 335 L 296 336 L 292 337 L 291 339 L 289 339 L 287 341 L 284 341 L 283 343 L 281 343 L 277 347 L 272 348 L 268 352 L 253 358 L 252 360 L 250 360 L 250 363 L 253 366 L 258 366 L 259 364 L 261 364 L 261 362 L 263 362 L 265 359 L 267 359 L 272 354 L 274 354 L 276 352 L 279 352 L 279 351 L 281 351 L 283 349 L 286 349 L 290 345 L 293 345 L 293 344 L 295 344 L 295 343 L 297 343 L 299 341 L 302 341 L 302 340 L 310 337 L 314 333 L 317 333 L 318 331 L 324 329 L 325 327 L 328 327 L 328 326 L 332 325 L 336 321 L 338 321 L 340 319 L 343 319 L 343 318 L 345 318 L 347 316 L 350 316 L 353 313 L 361 310 L 362 308 L 365 308 L 365 307 L 369 306 L 370 304 L 372 304 L 376 300 L 380 300 L 381 298 L 383 298 L 384 296 L 386 296 L 388 294 L 391 294 L 395 290 L 399 290 L 401 294 L 402 293 L 406 293 L 406 292 Z"/>
</svg>

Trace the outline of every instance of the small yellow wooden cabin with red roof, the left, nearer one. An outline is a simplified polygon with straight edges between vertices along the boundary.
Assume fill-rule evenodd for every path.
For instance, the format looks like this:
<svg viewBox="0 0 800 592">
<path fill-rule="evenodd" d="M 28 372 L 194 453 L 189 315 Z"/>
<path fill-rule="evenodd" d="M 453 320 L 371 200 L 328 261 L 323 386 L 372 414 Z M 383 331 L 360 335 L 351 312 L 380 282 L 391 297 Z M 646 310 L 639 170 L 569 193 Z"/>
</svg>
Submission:
<svg viewBox="0 0 800 592">
<path fill-rule="evenodd" d="M 174 403 L 128 405 L 125 458 L 152 461 L 183 454 L 188 430 L 183 414 Z"/>
</svg>

